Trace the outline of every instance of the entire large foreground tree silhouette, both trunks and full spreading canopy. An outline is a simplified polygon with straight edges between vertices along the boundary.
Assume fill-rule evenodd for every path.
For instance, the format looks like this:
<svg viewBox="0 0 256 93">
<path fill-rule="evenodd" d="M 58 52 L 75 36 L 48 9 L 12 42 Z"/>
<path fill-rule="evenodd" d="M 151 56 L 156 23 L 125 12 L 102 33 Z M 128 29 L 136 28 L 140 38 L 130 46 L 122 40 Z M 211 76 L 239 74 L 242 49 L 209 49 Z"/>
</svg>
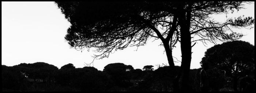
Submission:
<svg viewBox="0 0 256 93">
<path fill-rule="evenodd" d="M 234 1 L 56 3 L 72 24 L 65 37 L 69 45 L 79 50 L 94 47 L 96 52 L 103 52 L 95 58 L 108 57 L 110 52 L 128 46 L 144 45 L 154 37 L 161 39 L 168 63 L 174 68 L 172 48 L 179 41 L 182 61 L 177 78 L 182 76 L 181 90 L 185 91 L 189 87 L 191 49 L 197 41 L 233 41 L 243 35 L 230 28 L 254 24 L 252 17 L 230 18 L 221 23 L 209 16 L 241 9 L 242 2 Z"/>
</svg>

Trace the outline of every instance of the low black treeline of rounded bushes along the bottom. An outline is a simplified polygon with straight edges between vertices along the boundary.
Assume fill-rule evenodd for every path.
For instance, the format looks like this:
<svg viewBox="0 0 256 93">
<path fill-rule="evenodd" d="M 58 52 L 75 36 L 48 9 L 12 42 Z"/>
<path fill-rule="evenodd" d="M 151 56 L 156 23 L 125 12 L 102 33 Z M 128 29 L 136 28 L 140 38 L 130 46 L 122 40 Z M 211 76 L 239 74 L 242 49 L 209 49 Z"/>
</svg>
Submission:
<svg viewBox="0 0 256 93">
<path fill-rule="evenodd" d="M 2 65 L 3 91 L 173 91 L 173 79 L 179 66 L 147 65 L 133 69 L 131 65 L 112 63 L 99 71 L 94 67 L 75 68 L 67 64 L 58 69 L 44 62 Z M 200 69 L 191 69 L 191 91 L 200 91 Z M 216 69 L 209 71 L 211 91 L 229 91 L 232 81 Z"/>
</svg>

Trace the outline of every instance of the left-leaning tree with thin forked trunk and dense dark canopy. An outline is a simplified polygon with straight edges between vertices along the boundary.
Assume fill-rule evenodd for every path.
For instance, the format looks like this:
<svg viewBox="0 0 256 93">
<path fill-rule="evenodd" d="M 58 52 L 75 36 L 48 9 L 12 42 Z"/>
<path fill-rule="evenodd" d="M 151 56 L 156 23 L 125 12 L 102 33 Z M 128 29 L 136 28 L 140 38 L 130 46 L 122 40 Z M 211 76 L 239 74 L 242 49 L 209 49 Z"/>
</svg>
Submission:
<svg viewBox="0 0 256 93">
<path fill-rule="evenodd" d="M 174 67 L 172 39 L 177 17 L 173 18 L 163 2 L 56 2 L 72 24 L 65 39 L 77 50 L 95 48 L 94 57 L 128 46 L 142 46 L 150 37 L 161 39 L 169 65 Z M 154 6 L 154 7 L 152 7 Z M 157 7 L 157 8 L 156 8 Z M 96 12 L 97 11 L 97 12 Z M 158 28 L 161 27 L 161 28 Z M 175 36 L 176 37 L 176 36 Z M 174 42 L 175 41 L 175 42 Z"/>
</svg>

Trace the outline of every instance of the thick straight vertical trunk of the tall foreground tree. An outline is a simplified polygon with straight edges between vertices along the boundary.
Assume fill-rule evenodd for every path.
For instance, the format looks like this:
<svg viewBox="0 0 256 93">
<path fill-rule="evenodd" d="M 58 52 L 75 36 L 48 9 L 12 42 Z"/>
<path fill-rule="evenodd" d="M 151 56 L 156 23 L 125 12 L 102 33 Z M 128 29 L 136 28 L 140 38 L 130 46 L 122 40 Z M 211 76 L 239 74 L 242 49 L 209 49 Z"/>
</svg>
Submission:
<svg viewBox="0 0 256 93">
<path fill-rule="evenodd" d="M 182 70 L 182 83 L 181 91 L 189 91 L 189 71 L 191 64 L 191 35 L 190 35 L 190 19 L 191 12 L 187 13 L 182 10 L 181 15 L 179 16 L 180 21 L 180 32 L 181 32 L 181 70 Z"/>
</svg>

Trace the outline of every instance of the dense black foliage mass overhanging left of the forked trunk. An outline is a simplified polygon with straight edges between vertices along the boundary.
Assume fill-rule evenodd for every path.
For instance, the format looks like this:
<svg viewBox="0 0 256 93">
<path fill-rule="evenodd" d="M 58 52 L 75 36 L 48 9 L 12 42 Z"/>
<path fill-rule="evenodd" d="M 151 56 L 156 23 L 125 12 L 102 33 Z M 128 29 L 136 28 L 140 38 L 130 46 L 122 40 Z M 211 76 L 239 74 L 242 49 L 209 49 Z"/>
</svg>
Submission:
<svg viewBox="0 0 256 93">
<path fill-rule="evenodd" d="M 61 12 L 72 24 L 65 39 L 71 47 L 97 48 L 103 52 L 101 58 L 108 57 L 112 50 L 122 50 L 128 45 L 145 45 L 150 33 L 140 18 L 148 16 L 151 20 L 158 20 L 161 13 L 141 16 L 142 8 L 149 7 L 142 2 L 56 2 Z M 79 12 L 76 12 L 79 11 Z M 98 12 L 95 12 L 98 11 Z M 152 12 L 153 13 L 153 12 Z M 82 29 L 82 30 L 80 30 Z"/>
</svg>

